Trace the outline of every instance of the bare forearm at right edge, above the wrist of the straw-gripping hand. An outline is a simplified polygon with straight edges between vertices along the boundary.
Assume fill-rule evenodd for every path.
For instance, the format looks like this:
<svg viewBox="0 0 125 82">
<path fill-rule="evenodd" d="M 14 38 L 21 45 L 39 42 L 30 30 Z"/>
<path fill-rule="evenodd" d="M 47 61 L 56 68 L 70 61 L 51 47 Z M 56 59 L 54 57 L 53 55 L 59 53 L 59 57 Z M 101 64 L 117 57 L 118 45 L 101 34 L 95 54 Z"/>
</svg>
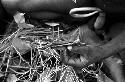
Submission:
<svg viewBox="0 0 125 82">
<path fill-rule="evenodd" d="M 123 31 L 121 34 L 116 36 L 114 39 L 112 39 L 110 42 L 106 43 L 102 46 L 102 48 L 105 51 L 105 57 L 109 57 L 113 55 L 114 53 L 117 53 L 125 48 L 125 31 Z"/>
</svg>

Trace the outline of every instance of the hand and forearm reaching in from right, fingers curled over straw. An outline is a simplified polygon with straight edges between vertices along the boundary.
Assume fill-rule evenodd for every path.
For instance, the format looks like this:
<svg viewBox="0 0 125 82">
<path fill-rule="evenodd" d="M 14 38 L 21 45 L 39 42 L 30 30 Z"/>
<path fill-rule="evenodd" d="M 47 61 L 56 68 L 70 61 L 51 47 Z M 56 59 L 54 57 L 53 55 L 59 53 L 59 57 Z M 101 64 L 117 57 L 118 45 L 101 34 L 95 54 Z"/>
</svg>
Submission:
<svg viewBox="0 0 125 82">
<path fill-rule="evenodd" d="M 108 58 L 125 48 L 124 36 L 125 36 L 125 31 L 123 31 L 117 37 L 113 38 L 111 41 L 107 42 L 105 45 L 73 47 L 72 51 L 75 53 L 79 53 L 82 57 L 85 58 L 85 60 L 81 62 L 76 62 L 75 58 L 71 59 L 68 56 L 67 57 L 63 56 L 64 57 L 63 59 L 65 59 L 64 62 L 66 64 L 73 65 L 73 66 L 85 67 L 94 62 Z M 78 60 L 80 61 L 80 59 Z"/>
</svg>

